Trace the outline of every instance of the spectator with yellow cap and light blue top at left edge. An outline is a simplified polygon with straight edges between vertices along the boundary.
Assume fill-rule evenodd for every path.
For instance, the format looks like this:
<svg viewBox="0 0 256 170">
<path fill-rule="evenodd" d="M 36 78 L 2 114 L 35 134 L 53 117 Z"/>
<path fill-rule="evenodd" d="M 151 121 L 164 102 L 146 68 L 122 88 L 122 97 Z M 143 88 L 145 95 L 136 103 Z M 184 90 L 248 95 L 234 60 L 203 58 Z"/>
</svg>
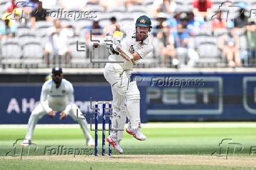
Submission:
<svg viewBox="0 0 256 170">
<path fill-rule="evenodd" d="M 0 39 L 12 38 L 15 36 L 15 25 L 11 22 L 11 16 L 9 13 L 4 13 L 2 16 L 2 22 L 0 25 Z"/>
</svg>

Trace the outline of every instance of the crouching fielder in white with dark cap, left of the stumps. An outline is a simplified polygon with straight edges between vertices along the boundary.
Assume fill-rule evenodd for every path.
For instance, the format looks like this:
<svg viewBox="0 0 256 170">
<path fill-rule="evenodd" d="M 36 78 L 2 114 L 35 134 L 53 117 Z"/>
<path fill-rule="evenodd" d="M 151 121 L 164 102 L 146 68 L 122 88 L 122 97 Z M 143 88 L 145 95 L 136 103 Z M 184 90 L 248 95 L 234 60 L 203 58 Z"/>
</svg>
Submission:
<svg viewBox="0 0 256 170">
<path fill-rule="evenodd" d="M 76 106 L 74 99 L 74 89 L 72 84 L 63 79 L 63 73 L 61 68 L 52 69 L 52 79 L 46 81 L 42 86 L 40 103 L 32 111 L 28 121 L 28 131 L 26 132 L 25 140 L 21 143 L 22 147 L 29 146 L 31 144 L 33 130 L 35 125 L 44 115 L 48 114 L 49 117 L 55 117 L 55 111 L 60 111 L 60 120 L 66 118 L 67 115 L 77 121 L 82 128 L 83 134 L 86 138 L 87 146 L 94 146 L 92 136 L 89 133 L 87 127 L 87 121 L 85 119 L 77 119 L 76 110 L 78 109 L 79 118 L 82 115 L 79 108 Z"/>
</svg>

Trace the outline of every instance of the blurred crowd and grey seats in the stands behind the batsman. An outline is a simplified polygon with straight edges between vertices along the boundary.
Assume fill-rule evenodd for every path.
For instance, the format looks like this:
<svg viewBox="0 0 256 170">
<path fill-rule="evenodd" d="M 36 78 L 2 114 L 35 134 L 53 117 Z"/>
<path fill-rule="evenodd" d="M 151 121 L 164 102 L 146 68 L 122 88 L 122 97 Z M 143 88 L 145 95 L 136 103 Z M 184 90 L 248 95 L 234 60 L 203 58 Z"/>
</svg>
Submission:
<svg viewBox="0 0 256 170">
<path fill-rule="evenodd" d="M 139 67 L 256 64 L 256 2 L 252 0 L 0 0 L 1 66 L 89 67 L 91 30 L 94 39 L 103 39 L 107 25 L 134 24 L 140 15 L 152 20 L 154 51 Z M 85 52 L 78 51 L 78 42 L 85 43 Z M 98 50 L 93 56 L 107 59 L 107 49 Z"/>
</svg>

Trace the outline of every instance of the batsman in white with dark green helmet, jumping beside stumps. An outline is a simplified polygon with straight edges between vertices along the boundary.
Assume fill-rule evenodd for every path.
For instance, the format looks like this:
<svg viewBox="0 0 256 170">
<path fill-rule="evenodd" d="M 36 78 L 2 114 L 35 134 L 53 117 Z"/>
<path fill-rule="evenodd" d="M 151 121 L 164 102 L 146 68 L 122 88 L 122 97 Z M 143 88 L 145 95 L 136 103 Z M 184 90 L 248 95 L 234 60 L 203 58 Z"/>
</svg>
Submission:
<svg viewBox="0 0 256 170">
<path fill-rule="evenodd" d="M 153 46 L 150 44 L 151 20 L 143 15 L 137 18 L 135 26 L 132 25 L 109 25 L 107 26 L 106 40 L 113 39 L 113 32 L 117 30 L 124 33 L 123 39 L 118 46 L 126 52 L 132 54 L 134 63 L 145 59 Z M 146 136 L 140 131 L 140 91 L 136 81 L 130 81 L 130 70 L 133 69 L 133 62 L 116 48 L 116 45 L 110 45 L 109 61 L 122 63 L 107 63 L 104 70 L 105 79 L 110 83 L 113 94 L 113 118 L 112 129 L 123 130 L 126 123 L 126 116 L 129 119 L 129 125 L 126 132 L 133 135 L 140 141 L 146 140 Z M 129 55 L 130 55 L 129 54 Z M 117 152 L 122 153 L 120 147 L 123 131 L 112 131 L 106 138 Z"/>
</svg>

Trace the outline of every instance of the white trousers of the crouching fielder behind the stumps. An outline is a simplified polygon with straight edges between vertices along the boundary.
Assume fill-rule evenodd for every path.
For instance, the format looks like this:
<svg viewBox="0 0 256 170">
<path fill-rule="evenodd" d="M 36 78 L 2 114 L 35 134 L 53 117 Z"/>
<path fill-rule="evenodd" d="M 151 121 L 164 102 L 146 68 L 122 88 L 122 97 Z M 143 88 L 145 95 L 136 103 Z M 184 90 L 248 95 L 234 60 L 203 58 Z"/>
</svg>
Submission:
<svg viewBox="0 0 256 170">
<path fill-rule="evenodd" d="M 76 122 L 79 123 L 80 127 L 82 128 L 83 134 L 85 135 L 86 140 L 89 140 L 92 138 L 92 136 L 89 133 L 89 128 L 87 127 L 87 121 L 86 119 L 77 119 L 76 118 L 76 110 L 78 107 L 76 104 L 73 104 L 72 108 L 70 109 L 69 113 L 66 113 L 70 115 L 70 117 L 73 118 Z M 33 136 L 33 130 L 35 129 L 36 123 L 38 123 L 38 120 L 40 120 L 44 115 L 48 114 L 42 107 L 41 104 L 38 104 L 38 106 L 35 107 L 35 109 L 32 111 L 29 120 L 28 120 L 28 131 L 26 132 L 26 139 L 32 140 Z M 78 115 L 79 118 L 82 118 L 80 115 L 82 115 L 80 109 L 78 109 Z M 83 117 L 84 118 L 84 117 Z"/>
</svg>

